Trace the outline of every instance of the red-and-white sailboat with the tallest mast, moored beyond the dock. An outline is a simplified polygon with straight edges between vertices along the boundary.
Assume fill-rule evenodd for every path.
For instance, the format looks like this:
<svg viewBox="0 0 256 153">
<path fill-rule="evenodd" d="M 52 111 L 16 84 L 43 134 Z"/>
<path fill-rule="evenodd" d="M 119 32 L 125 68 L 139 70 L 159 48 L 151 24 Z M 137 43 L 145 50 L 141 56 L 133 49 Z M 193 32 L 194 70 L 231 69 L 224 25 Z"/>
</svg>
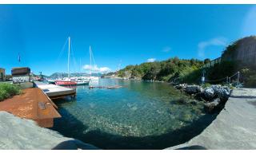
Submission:
<svg viewBox="0 0 256 153">
<path fill-rule="evenodd" d="M 89 84 L 88 80 L 83 80 L 81 78 L 77 77 L 71 77 L 70 78 L 70 37 L 69 37 L 69 52 L 67 57 L 67 72 L 68 77 L 65 77 L 63 79 L 55 80 L 56 85 L 82 85 L 82 84 Z"/>
</svg>

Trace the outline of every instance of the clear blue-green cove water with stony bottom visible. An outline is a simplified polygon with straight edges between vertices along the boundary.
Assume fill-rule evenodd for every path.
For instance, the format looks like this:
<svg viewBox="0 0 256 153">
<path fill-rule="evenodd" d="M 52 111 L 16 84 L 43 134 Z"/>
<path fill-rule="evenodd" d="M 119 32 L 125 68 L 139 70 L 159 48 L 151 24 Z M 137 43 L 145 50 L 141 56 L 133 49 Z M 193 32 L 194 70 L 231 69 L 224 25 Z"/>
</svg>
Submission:
<svg viewBox="0 0 256 153">
<path fill-rule="evenodd" d="M 78 86 L 75 100 L 58 100 L 61 119 L 54 130 L 104 149 L 162 149 L 185 142 L 210 124 L 214 116 L 170 84 L 140 80 L 101 79 Z"/>
</svg>

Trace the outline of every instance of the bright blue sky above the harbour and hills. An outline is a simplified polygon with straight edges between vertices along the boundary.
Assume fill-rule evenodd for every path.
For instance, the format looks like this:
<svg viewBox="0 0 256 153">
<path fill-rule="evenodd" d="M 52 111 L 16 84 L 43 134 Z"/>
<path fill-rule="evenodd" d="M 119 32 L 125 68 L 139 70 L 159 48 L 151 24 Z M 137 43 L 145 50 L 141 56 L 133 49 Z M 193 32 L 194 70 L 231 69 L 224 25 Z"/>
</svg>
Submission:
<svg viewBox="0 0 256 153">
<path fill-rule="evenodd" d="M 66 72 L 69 36 L 71 72 L 80 59 L 82 72 L 90 69 L 90 45 L 101 72 L 175 56 L 214 59 L 256 34 L 255 18 L 253 5 L 0 5 L 0 67 Z"/>
</svg>

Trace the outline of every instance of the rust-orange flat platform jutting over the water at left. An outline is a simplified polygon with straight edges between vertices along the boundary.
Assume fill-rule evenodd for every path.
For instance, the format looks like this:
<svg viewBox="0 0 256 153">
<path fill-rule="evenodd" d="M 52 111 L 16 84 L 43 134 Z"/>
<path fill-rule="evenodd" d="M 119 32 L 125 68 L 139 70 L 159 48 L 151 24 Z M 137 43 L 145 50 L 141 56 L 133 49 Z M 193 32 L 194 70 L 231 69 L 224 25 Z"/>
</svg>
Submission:
<svg viewBox="0 0 256 153">
<path fill-rule="evenodd" d="M 54 118 L 61 117 L 56 108 L 57 106 L 40 88 L 23 89 L 21 95 L 0 102 L 0 111 L 34 120 L 43 128 L 53 127 Z"/>
</svg>

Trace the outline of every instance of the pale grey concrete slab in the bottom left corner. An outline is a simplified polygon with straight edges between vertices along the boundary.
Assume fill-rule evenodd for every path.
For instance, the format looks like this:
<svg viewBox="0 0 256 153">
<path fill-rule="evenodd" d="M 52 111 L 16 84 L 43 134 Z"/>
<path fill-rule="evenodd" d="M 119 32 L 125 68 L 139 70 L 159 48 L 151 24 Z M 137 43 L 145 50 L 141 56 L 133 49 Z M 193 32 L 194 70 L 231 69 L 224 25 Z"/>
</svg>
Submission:
<svg viewBox="0 0 256 153">
<path fill-rule="evenodd" d="M 0 123 L 0 149 L 97 149 L 8 112 L 0 112 Z"/>
</svg>

